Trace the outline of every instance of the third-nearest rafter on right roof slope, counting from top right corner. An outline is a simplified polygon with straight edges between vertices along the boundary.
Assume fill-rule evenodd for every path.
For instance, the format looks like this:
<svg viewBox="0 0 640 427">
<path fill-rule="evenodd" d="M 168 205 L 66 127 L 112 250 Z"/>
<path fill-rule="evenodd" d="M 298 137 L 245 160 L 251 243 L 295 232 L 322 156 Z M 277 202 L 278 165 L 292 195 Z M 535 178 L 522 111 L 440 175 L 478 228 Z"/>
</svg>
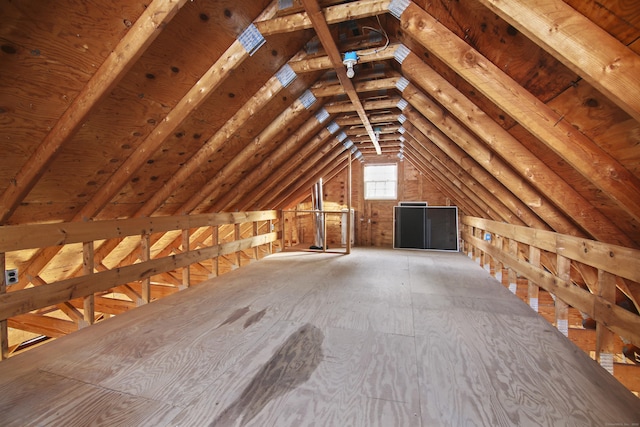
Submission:
<svg viewBox="0 0 640 427">
<path fill-rule="evenodd" d="M 511 167 L 573 221 L 597 240 L 623 246 L 636 246 L 607 216 L 567 184 L 514 136 L 479 109 L 440 74 L 410 53 L 402 62 L 405 76 L 423 88 L 449 113 L 474 132 L 503 159 L 518 159 Z"/>
</svg>

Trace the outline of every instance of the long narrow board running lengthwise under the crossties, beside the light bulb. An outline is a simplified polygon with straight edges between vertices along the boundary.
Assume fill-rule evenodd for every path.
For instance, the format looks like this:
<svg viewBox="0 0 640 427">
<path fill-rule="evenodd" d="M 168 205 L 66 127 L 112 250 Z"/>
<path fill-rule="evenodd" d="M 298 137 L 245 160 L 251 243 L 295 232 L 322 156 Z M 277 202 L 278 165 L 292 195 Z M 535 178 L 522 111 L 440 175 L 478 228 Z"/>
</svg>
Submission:
<svg viewBox="0 0 640 427">
<path fill-rule="evenodd" d="M 347 77 L 346 68 L 342 64 L 342 56 L 340 55 L 340 51 L 338 50 L 336 42 L 333 40 L 331 30 L 329 29 L 329 25 L 327 25 L 327 21 L 322 14 L 322 10 L 320 9 L 318 2 L 316 0 L 302 0 L 302 5 L 309 15 L 309 19 L 313 24 L 313 28 L 315 29 L 316 34 L 320 39 L 320 43 L 322 43 L 322 46 L 324 46 L 324 50 L 327 52 L 327 55 L 329 56 L 334 69 L 336 70 L 336 75 L 338 76 L 340 84 L 342 85 L 345 92 L 347 93 L 347 96 L 356 108 L 356 112 L 358 113 L 362 124 L 364 125 L 367 133 L 369 134 L 369 137 L 371 138 L 371 143 L 374 147 L 376 147 L 376 152 L 380 154 L 380 145 L 378 144 L 378 138 L 373 131 L 373 127 L 371 126 L 369 118 L 367 117 L 367 112 L 362 106 L 362 102 L 360 101 L 358 93 L 353 86 L 353 82 L 349 77 Z"/>
</svg>

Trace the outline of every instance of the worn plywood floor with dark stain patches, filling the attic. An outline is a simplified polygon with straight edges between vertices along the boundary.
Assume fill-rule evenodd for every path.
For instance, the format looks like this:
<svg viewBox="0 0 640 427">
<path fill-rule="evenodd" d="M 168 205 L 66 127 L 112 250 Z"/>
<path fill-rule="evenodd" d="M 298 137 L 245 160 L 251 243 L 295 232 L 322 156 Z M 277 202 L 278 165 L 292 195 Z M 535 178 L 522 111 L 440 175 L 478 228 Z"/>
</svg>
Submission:
<svg viewBox="0 0 640 427">
<path fill-rule="evenodd" d="M 2 362 L 0 414 L 2 426 L 605 426 L 640 422 L 640 400 L 464 255 L 355 249 L 272 255 Z"/>
</svg>

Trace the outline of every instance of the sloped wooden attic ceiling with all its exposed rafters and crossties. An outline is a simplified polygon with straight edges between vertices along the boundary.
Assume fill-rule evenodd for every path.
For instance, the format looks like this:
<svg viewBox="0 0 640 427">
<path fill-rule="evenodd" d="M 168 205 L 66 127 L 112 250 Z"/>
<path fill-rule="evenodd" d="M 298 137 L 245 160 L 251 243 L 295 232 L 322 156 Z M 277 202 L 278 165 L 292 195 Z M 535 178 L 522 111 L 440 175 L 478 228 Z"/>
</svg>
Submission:
<svg viewBox="0 0 640 427">
<path fill-rule="evenodd" d="M 0 0 L 0 224 L 285 208 L 351 141 L 640 247 L 639 37 L 635 0 Z"/>
</svg>

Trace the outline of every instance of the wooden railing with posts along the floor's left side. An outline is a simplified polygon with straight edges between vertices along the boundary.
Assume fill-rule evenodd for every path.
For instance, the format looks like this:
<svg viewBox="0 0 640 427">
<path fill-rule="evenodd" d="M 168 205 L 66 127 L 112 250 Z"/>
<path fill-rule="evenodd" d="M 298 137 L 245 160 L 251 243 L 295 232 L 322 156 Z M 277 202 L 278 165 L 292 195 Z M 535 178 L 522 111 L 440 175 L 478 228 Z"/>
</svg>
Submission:
<svg viewBox="0 0 640 427">
<path fill-rule="evenodd" d="M 114 289 L 131 299 L 129 306 L 150 302 L 152 286 L 157 283 L 154 280 L 152 285 L 152 278 L 164 277 L 166 280 L 161 281 L 172 282 L 170 286 L 181 289 L 191 285 L 192 266 L 206 270 L 200 265 L 204 261 L 211 262 L 207 273 L 214 276 L 219 257 L 236 254 L 239 265 L 243 251 L 253 248 L 257 258 L 258 247 L 266 245 L 267 252 L 271 253 L 273 243 L 278 242 L 277 232 L 273 231 L 273 221 L 278 218 L 276 211 L 259 211 L 0 227 L 2 271 L 10 264 L 17 264 L 16 258 L 20 260 L 21 257 L 16 254 L 26 254 L 22 261 L 25 263 L 27 257 L 28 264 L 35 262 L 45 251 L 66 257 L 63 264 L 76 267 L 71 277 L 49 283 L 42 279 L 47 277 L 45 269 L 33 276 L 19 270 L 21 279 L 12 286 L 7 286 L 2 274 L 1 358 L 9 355 L 9 322 L 25 316 L 35 319 L 44 309 L 57 307 L 75 320 L 77 327 L 82 327 L 95 320 L 96 295 L 116 292 Z M 224 235 L 220 232 L 222 227 L 228 229 Z M 110 242 L 113 244 L 109 245 Z M 109 247 L 115 252 L 118 246 L 124 248 L 125 256 L 117 257 L 110 266 L 106 265 L 109 263 L 105 261 L 105 254 L 96 255 L 99 248 Z M 176 270 L 181 270 L 181 278 L 168 274 Z M 164 290 L 162 293 L 171 292 Z M 123 306 L 124 303 L 113 304 Z M 51 322 L 56 320 L 51 318 Z"/>
</svg>

